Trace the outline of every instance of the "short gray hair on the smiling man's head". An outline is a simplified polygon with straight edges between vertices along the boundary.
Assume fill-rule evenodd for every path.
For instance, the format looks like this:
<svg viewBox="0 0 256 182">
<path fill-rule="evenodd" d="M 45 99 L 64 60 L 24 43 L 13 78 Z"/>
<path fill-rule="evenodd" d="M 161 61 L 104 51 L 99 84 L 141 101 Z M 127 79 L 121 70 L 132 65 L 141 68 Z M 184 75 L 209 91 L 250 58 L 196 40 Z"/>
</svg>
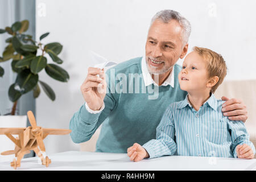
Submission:
<svg viewBox="0 0 256 182">
<path fill-rule="evenodd" d="M 180 26 L 183 28 L 183 44 L 188 43 L 188 38 L 191 33 L 191 24 L 187 19 L 180 15 L 179 12 L 174 10 L 162 10 L 155 14 L 151 19 L 151 24 L 156 20 L 161 19 L 164 23 L 169 23 L 172 19 L 180 23 Z M 151 26 L 150 24 L 150 26 Z"/>
</svg>

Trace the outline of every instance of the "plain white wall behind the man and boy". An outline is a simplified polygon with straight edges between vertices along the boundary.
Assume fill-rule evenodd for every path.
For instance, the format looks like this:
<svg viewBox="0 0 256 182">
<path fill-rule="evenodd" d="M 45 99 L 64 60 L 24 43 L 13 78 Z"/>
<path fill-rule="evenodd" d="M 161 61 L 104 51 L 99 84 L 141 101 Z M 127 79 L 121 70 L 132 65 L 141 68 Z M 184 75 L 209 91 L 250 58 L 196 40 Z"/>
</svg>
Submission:
<svg viewBox="0 0 256 182">
<path fill-rule="evenodd" d="M 95 64 L 87 52 L 93 50 L 118 63 L 142 56 L 150 20 L 163 9 L 179 11 L 191 22 L 189 51 L 200 46 L 221 53 L 228 65 L 226 80 L 255 79 L 255 6 L 253 0 L 37 0 L 36 37 L 49 31 L 44 43 L 63 44 L 61 66 L 70 76 L 63 83 L 40 73 L 40 80 L 55 90 L 56 100 L 41 93 L 36 100 L 38 125 L 68 129 L 73 113 L 84 103 L 80 85 L 87 68 Z M 69 135 L 52 135 L 45 141 L 48 154 L 79 150 Z"/>
</svg>

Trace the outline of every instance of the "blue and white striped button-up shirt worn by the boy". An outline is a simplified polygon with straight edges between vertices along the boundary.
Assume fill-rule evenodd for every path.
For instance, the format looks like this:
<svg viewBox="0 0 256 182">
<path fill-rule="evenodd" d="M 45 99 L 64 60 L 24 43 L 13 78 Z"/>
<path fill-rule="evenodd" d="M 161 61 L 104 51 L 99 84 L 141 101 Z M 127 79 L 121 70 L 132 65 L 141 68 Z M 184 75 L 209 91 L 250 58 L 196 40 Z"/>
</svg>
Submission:
<svg viewBox="0 0 256 182">
<path fill-rule="evenodd" d="M 164 155 L 237 158 L 236 147 L 243 143 L 255 154 L 244 123 L 231 121 L 222 114 L 224 101 L 212 94 L 196 111 L 187 97 L 168 106 L 156 128 L 156 139 L 142 146 L 150 158 Z"/>
</svg>

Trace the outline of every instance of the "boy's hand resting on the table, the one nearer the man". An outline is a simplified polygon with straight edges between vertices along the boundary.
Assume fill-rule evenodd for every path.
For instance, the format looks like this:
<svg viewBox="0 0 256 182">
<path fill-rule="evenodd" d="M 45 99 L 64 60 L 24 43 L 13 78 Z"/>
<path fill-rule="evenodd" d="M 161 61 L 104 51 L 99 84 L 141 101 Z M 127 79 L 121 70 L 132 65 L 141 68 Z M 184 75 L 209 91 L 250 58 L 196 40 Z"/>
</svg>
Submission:
<svg viewBox="0 0 256 182">
<path fill-rule="evenodd" d="M 147 151 L 138 143 L 134 143 L 133 146 L 127 149 L 127 155 L 130 157 L 130 160 L 134 162 L 149 157 Z"/>
</svg>

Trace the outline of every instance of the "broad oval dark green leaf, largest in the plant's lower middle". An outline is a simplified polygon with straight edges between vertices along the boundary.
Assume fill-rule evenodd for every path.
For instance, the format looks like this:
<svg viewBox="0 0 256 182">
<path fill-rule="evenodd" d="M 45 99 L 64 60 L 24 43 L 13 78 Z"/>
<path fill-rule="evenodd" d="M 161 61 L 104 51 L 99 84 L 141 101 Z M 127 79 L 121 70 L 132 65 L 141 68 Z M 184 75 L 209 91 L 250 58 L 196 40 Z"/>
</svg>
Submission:
<svg viewBox="0 0 256 182">
<path fill-rule="evenodd" d="M 18 73 L 15 81 L 15 89 L 24 94 L 30 92 L 38 83 L 38 75 L 30 72 L 30 69 L 24 69 Z"/>
</svg>

